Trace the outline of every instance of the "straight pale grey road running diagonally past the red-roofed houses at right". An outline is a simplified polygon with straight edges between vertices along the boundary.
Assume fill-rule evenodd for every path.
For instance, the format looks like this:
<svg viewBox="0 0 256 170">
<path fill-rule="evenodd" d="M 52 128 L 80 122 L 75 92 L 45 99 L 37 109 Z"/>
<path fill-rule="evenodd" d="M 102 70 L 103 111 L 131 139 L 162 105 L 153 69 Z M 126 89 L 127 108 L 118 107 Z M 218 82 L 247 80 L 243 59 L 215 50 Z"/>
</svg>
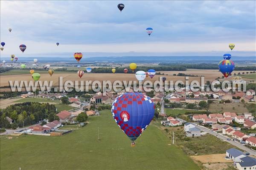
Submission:
<svg viewBox="0 0 256 170">
<path fill-rule="evenodd" d="M 207 132 L 207 133 L 209 133 L 209 134 L 211 134 L 211 135 L 214 135 L 214 136 L 217 135 L 216 132 L 213 132 L 213 131 L 209 130 L 209 129 L 206 128 L 206 127 L 197 126 L 197 128 L 200 129 L 200 130 L 202 130 L 202 131 L 204 131 L 204 132 Z M 227 136 L 224 136 L 224 135 L 221 135 L 221 134 L 218 133 L 218 138 L 220 138 L 220 139 L 222 139 L 222 140 L 224 140 L 224 141 L 227 141 L 227 142 L 230 143 L 230 144 L 233 144 L 234 146 L 240 148 L 241 150 L 245 150 L 246 152 L 250 153 L 250 155 L 256 156 L 256 151 L 251 150 L 250 148 L 245 147 L 244 145 L 239 144 L 239 143 L 236 142 L 236 141 L 232 141 L 232 140 L 228 141 L 228 140 L 227 140 L 227 138 L 228 138 Z"/>
</svg>

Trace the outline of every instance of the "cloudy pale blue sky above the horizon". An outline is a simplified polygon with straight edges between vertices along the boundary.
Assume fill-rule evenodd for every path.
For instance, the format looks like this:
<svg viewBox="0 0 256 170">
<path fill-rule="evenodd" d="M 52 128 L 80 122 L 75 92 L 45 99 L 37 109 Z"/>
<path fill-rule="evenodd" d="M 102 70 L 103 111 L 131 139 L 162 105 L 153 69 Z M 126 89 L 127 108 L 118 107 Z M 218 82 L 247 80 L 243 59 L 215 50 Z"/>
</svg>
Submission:
<svg viewBox="0 0 256 170">
<path fill-rule="evenodd" d="M 0 40 L 3 57 L 256 56 L 256 1 L 1 0 Z"/>
</svg>

